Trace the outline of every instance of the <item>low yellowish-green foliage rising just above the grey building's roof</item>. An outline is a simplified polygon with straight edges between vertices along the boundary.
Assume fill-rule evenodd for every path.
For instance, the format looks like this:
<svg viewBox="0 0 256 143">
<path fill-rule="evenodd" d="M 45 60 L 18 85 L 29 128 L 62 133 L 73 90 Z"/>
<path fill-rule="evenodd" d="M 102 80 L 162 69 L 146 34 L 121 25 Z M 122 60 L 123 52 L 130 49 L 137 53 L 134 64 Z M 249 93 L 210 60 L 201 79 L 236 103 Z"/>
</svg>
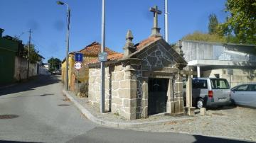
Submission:
<svg viewBox="0 0 256 143">
<path fill-rule="evenodd" d="M 226 42 L 226 39 L 220 37 L 218 34 L 208 34 L 196 31 L 192 34 L 188 34 L 182 38 L 182 40 L 196 40 L 204 42 Z"/>
</svg>

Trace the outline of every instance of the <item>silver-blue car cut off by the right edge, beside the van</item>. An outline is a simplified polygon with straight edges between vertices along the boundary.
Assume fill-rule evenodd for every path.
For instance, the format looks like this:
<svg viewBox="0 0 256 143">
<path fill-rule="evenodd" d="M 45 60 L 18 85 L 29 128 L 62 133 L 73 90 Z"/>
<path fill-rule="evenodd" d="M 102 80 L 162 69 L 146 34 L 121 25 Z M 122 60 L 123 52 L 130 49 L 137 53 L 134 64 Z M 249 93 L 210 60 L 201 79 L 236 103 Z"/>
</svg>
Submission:
<svg viewBox="0 0 256 143">
<path fill-rule="evenodd" d="M 240 84 L 231 88 L 230 98 L 236 105 L 246 105 L 256 108 L 256 83 Z"/>
</svg>

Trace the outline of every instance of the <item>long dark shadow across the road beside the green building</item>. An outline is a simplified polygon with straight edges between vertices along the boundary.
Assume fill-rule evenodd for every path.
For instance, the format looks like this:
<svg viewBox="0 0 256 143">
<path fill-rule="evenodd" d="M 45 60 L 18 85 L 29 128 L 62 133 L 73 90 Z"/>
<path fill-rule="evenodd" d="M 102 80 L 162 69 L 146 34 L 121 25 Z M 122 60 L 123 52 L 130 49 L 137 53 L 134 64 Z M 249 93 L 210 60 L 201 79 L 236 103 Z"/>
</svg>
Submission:
<svg viewBox="0 0 256 143">
<path fill-rule="evenodd" d="M 23 83 L 16 84 L 15 86 L 0 88 L 0 96 L 4 96 L 6 94 L 18 93 L 22 91 L 31 91 L 33 88 L 39 86 L 47 86 L 49 84 L 55 84 L 60 82 L 60 76 L 54 75 L 40 75 L 36 76 L 35 79 L 31 79 L 30 81 L 26 81 Z M 40 95 L 40 96 L 48 96 L 48 95 Z"/>
</svg>

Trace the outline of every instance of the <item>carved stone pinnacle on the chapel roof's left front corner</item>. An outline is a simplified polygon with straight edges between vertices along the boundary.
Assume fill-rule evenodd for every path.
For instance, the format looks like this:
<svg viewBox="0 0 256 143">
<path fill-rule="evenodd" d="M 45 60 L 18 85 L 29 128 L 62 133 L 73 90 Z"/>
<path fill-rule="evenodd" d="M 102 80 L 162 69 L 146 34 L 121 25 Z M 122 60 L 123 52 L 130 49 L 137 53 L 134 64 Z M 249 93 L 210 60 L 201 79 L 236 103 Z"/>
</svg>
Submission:
<svg viewBox="0 0 256 143">
<path fill-rule="evenodd" d="M 132 54 L 132 52 L 136 50 L 136 48 L 134 47 L 134 43 L 132 42 L 133 35 L 131 30 L 127 31 L 127 35 L 125 36 L 125 39 L 127 41 L 123 47 L 124 57 L 128 57 L 130 54 Z"/>
</svg>

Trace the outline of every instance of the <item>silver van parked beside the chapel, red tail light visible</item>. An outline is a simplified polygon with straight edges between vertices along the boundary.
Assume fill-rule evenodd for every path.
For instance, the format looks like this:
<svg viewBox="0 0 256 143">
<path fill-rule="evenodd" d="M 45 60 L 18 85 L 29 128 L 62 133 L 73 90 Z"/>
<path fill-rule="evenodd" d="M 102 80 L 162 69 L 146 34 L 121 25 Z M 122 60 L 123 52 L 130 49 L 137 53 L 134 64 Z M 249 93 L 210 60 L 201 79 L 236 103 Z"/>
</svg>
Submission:
<svg viewBox="0 0 256 143">
<path fill-rule="evenodd" d="M 183 90 L 186 101 L 186 88 Z M 230 86 L 227 79 L 193 78 L 192 104 L 196 108 L 230 105 Z"/>
</svg>

